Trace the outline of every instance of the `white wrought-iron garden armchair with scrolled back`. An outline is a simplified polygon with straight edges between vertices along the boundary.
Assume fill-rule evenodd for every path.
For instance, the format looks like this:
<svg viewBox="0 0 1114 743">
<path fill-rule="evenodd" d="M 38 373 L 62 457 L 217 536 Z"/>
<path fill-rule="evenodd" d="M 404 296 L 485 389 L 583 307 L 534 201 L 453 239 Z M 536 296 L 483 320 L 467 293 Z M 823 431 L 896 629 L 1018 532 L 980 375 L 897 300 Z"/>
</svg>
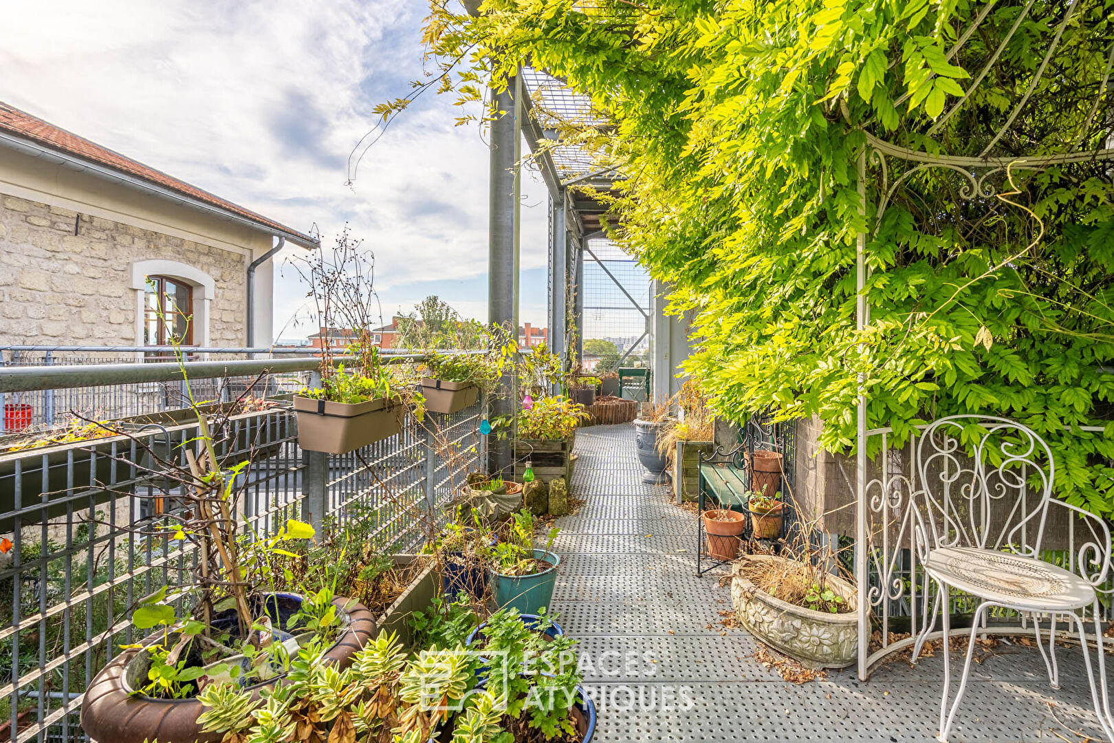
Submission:
<svg viewBox="0 0 1114 743">
<path fill-rule="evenodd" d="M 966 446 L 965 446 L 966 444 Z M 974 451 L 974 457 L 968 456 Z M 1056 622 L 1066 618 L 1083 647 L 1092 702 L 1108 740 L 1114 740 L 1114 717 L 1106 693 L 1102 614 L 1097 588 L 1111 567 L 1111 535 L 1093 514 L 1052 497 L 1055 465 L 1048 444 L 1016 421 L 985 416 L 952 416 L 929 426 L 917 444 L 913 493 L 917 549 L 925 571 L 936 583 L 930 618 L 913 647 L 916 662 L 925 641 L 942 617 L 944 695 L 940 701 L 939 740 L 947 741 L 964 698 L 971 669 L 978 628 L 994 607 L 1013 609 L 1033 620 L 1037 647 L 1053 688 L 1059 687 L 1056 666 Z M 1067 509 L 1068 546 L 1058 553 L 1065 567 L 1047 563 L 1054 557 L 1046 526 L 1052 508 Z M 1079 529 L 1077 525 L 1083 525 Z M 1082 530 L 1082 538 L 1076 535 Z M 1044 551 L 1043 551 L 1044 550 Z M 970 642 L 956 698 L 949 707 L 951 685 L 948 662 L 949 608 L 952 589 L 979 599 L 971 623 Z M 941 606 L 942 605 L 942 606 Z M 942 609 L 942 610 L 941 610 Z M 928 592 L 925 592 L 928 616 Z M 1040 622 L 1049 619 L 1048 651 L 1042 644 Z M 1085 619 L 1094 620 L 1098 651 L 1098 680 L 1087 651 Z"/>
</svg>

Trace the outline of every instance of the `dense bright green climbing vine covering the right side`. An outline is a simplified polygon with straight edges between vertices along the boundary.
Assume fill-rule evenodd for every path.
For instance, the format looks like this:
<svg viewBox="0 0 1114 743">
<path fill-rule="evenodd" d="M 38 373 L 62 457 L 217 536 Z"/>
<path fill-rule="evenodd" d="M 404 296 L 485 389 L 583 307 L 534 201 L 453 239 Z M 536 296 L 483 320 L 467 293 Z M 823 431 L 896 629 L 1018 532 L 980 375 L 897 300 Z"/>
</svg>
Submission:
<svg viewBox="0 0 1114 743">
<path fill-rule="evenodd" d="M 694 311 L 686 368 L 719 414 L 818 416 L 821 443 L 848 451 L 862 373 L 869 427 L 900 441 L 939 416 L 1015 418 L 1052 444 L 1058 492 L 1111 516 L 1114 423 L 1079 430 L 1114 402 L 1111 166 L 1017 159 L 1111 134 L 1114 0 L 1079 0 L 1061 29 L 1066 7 L 487 0 L 469 16 L 438 0 L 421 86 L 478 102 L 528 65 L 592 97 L 561 128 L 627 176 L 610 235 L 670 282 L 671 311 Z M 1016 162 L 915 169 L 871 137 Z"/>
</svg>

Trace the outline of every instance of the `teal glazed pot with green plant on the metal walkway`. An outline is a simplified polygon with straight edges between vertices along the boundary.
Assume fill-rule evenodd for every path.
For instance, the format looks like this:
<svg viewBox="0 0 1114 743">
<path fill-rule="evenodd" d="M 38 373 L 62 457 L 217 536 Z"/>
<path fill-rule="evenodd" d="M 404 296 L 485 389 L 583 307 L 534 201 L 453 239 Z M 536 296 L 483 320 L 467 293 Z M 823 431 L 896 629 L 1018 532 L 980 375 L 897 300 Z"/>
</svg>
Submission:
<svg viewBox="0 0 1114 743">
<path fill-rule="evenodd" d="M 497 544 L 491 554 L 489 577 L 496 605 L 514 607 L 519 614 L 538 614 L 549 606 L 560 565 L 550 547 L 559 531 L 550 529 L 545 546 L 538 547 L 534 515 L 525 509 L 515 514 L 507 540 Z"/>
</svg>

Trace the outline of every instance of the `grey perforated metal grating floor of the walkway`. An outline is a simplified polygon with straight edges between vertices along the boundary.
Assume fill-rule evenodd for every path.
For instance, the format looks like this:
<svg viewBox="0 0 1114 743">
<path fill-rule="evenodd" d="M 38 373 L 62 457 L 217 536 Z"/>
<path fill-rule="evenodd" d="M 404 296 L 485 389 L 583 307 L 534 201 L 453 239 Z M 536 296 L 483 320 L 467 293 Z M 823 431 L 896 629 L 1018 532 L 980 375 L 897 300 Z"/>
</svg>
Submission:
<svg viewBox="0 0 1114 743">
<path fill-rule="evenodd" d="M 586 499 L 558 519 L 561 568 L 554 610 L 580 638 L 585 686 L 596 702 L 594 740 L 935 741 L 942 667 L 893 662 L 860 682 L 853 671 L 794 685 L 754 659 L 743 629 L 720 624 L 731 595 L 724 569 L 695 571 L 694 517 L 671 490 L 643 485 L 631 426 L 576 436 L 573 481 Z M 954 743 L 1102 740 L 1082 656 L 1062 648 L 1062 688 L 1048 687 L 1036 649 L 1000 646 L 975 667 Z M 959 663 L 952 659 L 952 668 Z"/>
</svg>

